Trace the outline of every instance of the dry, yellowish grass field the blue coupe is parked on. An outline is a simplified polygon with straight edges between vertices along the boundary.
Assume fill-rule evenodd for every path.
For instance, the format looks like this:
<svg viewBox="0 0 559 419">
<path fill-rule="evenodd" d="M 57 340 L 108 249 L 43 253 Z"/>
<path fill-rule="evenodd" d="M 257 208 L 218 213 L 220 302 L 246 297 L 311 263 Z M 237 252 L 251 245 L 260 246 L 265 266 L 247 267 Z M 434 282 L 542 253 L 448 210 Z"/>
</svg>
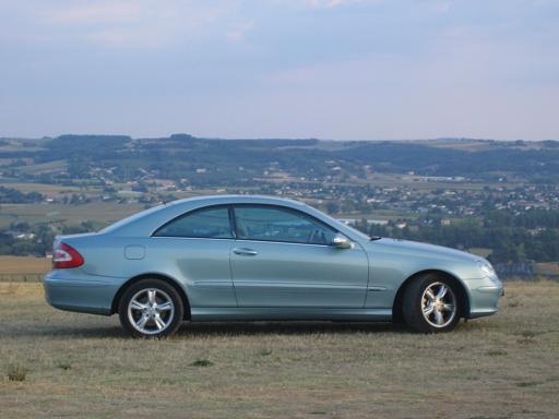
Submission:
<svg viewBox="0 0 559 419">
<path fill-rule="evenodd" d="M 134 340 L 0 284 L 0 417 L 557 418 L 559 284 L 510 283 L 447 335 L 374 323 L 185 324 Z"/>
</svg>

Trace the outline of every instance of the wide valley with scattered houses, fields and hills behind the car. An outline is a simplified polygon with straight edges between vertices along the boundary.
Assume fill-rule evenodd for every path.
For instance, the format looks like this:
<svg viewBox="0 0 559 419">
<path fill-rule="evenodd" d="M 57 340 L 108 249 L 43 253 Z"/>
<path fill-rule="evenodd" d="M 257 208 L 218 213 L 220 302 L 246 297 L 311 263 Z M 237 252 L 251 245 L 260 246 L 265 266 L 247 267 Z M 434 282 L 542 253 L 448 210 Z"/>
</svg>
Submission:
<svg viewBox="0 0 559 419">
<path fill-rule="evenodd" d="M 467 139 L 2 139 L 0 253 L 44 255 L 57 234 L 177 199 L 251 193 L 307 202 L 371 236 L 472 251 L 504 275 L 555 275 L 558 149 Z M 502 154 L 509 160 L 492 165 Z"/>
</svg>

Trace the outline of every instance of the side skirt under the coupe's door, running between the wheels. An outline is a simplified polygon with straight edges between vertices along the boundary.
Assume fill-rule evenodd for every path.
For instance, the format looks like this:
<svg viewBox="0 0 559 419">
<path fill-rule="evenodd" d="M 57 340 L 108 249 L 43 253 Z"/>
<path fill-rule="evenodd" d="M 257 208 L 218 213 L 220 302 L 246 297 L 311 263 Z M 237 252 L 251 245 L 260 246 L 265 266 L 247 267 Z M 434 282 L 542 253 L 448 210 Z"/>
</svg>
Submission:
<svg viewBox="0 0 559 419">
<path fill-rule="evenodd" d="M 392 320 L 391 309 L 321 309 L 321 308 L 237 308 L 193 307 L 193 322 L 224 321 L 285 321 L 335 320 L 346 322 L 386 322 Z"/>
</svg>

